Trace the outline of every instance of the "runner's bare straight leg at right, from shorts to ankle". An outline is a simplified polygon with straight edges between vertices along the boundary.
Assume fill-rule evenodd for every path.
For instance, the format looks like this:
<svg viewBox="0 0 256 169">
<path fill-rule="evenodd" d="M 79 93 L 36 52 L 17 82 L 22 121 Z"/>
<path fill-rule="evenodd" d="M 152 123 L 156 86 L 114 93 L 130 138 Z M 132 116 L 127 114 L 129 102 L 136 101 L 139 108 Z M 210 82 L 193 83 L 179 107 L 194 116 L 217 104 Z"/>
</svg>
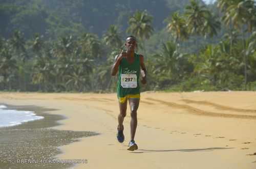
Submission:
<svg viewBox="0 0 256 169">
<path fill-rule="evenodd" d="M 137 128 L 137 110 L 139 107 L 139 98 L 129 98 L 129 105 L 131 109 L 131 140 L 134 140 Z"/>
</svg>

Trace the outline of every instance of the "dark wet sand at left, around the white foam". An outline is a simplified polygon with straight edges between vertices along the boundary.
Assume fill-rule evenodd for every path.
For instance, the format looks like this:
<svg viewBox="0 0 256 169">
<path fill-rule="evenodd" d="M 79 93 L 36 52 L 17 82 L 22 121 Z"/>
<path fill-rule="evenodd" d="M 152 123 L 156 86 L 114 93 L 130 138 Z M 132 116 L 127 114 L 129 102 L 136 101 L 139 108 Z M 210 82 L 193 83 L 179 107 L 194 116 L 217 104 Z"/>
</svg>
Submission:
<svg viewBox="0 0 256 169">
<path fill-rule="evenodd" d="M 34 111 L 36 116 L 42 116 L 44 119 L 0 128 L 0 168 L 70 168 L 75 164 L 50 163 L 63 153 L 59 147 L 79 142 L 82 137 L 96 135 L 87 131 L 53 129 L 61 125 L 59 121 L 67 119 L 65 116 L 55 115 L 56 109 L 32 105 L 4 105 L 7 109 Z M 47 113 L 49 111 L 53 111 L 53 114 Z M 10 162 L 11 159 L 15 160 L 14 164 Z M 22 160 L 27 162 L 21 162 Z"/>
</svg>

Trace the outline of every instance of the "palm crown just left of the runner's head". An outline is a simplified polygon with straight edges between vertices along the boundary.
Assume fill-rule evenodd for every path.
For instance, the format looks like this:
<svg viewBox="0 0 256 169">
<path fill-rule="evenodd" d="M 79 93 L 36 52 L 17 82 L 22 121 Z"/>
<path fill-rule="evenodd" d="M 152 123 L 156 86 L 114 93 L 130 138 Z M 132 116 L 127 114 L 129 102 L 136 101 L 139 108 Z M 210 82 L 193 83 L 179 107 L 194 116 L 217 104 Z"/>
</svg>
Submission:
<svg viewBox="0 0 256 169">
<path fill-rule="evenodd" d="M 103 35 L 106 45 L 112 48 L 120 48 L 122 45 L 121 36 L 116 25 L 110 25 L 108 32 Z"/>
</svg>

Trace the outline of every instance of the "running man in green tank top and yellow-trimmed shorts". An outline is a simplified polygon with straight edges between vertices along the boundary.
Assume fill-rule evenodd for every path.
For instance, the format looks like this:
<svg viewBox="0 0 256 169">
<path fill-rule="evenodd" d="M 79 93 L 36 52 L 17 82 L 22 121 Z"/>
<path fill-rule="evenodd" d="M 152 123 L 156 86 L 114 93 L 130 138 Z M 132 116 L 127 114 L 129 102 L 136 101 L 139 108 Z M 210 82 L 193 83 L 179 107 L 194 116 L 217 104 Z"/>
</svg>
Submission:
<svg viewBox="0 0 256 169">
<path fill-rule="evenodd" d="M 144 65 L 143 55 L 135 53 L 137 41 L 134 36 L 126 38 L 126 51 L 116 55 L 115 63 L 111 69 L 111 75 L 118 73 L 117 97 L 119 101 L 120 114 L 118 115 L 117 139 L 118 142 L 124 141 L 123 120 L 126 116 L 127 101 L 131 109 L 131 140 L 127 150 L 134 151 L 138 149 L 134 141 L 137 128 L 137 109 L 140 102 L 139 78 L 142 75 L 141 83 L 146 83 L 146 68 Z"/>
</svg>

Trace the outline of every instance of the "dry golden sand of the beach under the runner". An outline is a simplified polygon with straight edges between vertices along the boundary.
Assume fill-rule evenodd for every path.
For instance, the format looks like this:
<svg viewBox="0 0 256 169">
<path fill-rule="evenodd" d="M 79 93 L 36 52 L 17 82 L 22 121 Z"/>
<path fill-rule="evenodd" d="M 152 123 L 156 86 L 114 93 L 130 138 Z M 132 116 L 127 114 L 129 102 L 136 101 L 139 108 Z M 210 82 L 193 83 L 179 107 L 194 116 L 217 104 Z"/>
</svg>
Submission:
<svg viewBox="0 0 256 169">
<path fill-rule="evenodd" d="M 141 93 L 135 136 L 139 149 L 116 140 L 116 94 L 0 93 L 0 102 L 40 106 L 66 119 L 52 129 L 99 135 L 59 147 L 75 168 L 256 168 L 256 92 Z"/>
</svg>

